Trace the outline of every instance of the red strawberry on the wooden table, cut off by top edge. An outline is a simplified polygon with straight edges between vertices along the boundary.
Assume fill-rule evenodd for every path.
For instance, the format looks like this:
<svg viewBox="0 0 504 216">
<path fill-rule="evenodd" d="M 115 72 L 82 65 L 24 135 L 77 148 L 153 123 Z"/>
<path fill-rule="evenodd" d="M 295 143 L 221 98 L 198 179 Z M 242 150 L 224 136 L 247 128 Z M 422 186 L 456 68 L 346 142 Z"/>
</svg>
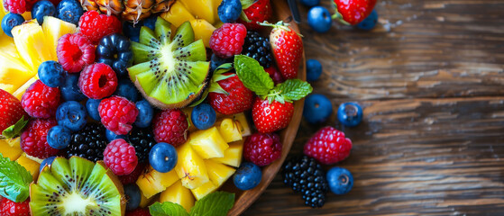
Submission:
<svg viewBox="0 0 504 216">
<path fill-rule="evenodd" d="M 356 25 L 361 23 L 376 4 L 376 0 L 334 0 L 333 7 L 335 14 L 333 19 L 338 19 L 341 23 Z"/>
</svg>

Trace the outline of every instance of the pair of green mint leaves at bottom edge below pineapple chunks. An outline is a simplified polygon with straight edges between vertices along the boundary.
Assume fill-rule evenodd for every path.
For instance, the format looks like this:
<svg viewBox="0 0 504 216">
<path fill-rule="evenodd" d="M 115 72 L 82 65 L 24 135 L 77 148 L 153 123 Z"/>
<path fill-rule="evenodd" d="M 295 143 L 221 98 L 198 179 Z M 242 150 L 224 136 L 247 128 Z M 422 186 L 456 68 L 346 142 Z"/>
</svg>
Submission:
<svg viewBox="0 0 504 216">
<path fill-rule="evenodd" d="M 234 193 L 215 192 L 197 201 L 189 213 L 173 202 L 156 202 L 149 206 L 149 211 L 152 216 L 225 216 L 233 205 Z"/>
</svg>

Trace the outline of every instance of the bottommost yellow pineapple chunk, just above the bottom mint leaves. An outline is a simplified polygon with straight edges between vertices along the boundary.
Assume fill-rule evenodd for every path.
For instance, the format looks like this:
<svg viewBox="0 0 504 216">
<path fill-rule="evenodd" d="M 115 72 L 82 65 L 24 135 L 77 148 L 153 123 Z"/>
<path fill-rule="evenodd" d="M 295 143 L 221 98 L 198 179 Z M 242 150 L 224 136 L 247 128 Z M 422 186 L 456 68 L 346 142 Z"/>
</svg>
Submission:
<svg viewBox="0 0 504 216">
<path fill-rule="evenodd" d="M 166 191 L 162 192 L 160 195 L 160 202 L 173 202 L 178 203 L 186 211 L 191 211 L 191 208 L 194 206 L 194 196 L 189 191 L 188 188 L 182 185 L 180 181 L 172 184 Z"/>
</svg>

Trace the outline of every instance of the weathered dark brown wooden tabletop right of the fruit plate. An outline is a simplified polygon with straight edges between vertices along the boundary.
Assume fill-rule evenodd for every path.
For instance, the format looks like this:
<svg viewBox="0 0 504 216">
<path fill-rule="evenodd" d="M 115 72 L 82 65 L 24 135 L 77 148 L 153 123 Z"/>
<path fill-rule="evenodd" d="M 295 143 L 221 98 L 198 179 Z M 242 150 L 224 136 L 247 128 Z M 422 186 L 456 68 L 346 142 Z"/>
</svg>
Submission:
<svg viewBox="0 0 504 216">
<path fill-rule="evenodd" d="M 334 104 L 324 125 L 353 139 L 337 166 L 355 184 L 311 209 L 277 175 L 244 215 L 504 215 L 504 1 L 380 1 L 373 31 L 325 34 L 299 6 L 307 58 L 324 67 L 314 92 Z M 364 108 L 356 128 L 335 120 L 349 101 Z M 303 121 L 291 154 L 324 125 Z"/>
</svg>

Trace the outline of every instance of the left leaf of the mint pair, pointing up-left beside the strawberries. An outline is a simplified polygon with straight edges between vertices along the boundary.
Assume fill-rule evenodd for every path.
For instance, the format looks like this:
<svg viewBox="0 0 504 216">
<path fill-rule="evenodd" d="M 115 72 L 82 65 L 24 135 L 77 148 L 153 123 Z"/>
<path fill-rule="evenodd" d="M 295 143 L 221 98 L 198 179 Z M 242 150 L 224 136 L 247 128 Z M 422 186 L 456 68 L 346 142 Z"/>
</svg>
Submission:
<svg viewBox="0 0 504 216">
<path fill-rule="evenodd" d="M 243 85 L 257 95 L 268 94 L 275 85 L 270 75 L 264 71 L 264 67 L 261 67 L 254 58 L 243 55 L 234 56 L 234 70 Z"/>
</svg>

